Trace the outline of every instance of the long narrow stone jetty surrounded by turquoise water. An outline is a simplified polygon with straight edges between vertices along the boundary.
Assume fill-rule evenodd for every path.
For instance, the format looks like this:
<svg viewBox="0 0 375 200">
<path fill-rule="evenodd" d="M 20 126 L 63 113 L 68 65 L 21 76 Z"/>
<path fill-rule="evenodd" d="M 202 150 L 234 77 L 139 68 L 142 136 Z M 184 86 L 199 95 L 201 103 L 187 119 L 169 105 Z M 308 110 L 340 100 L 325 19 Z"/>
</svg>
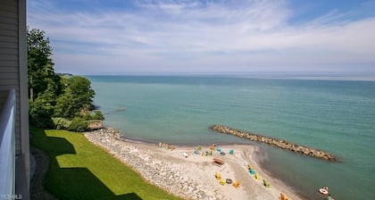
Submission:
<svg viewBox="0 0 375 200">
<path fill-rule="evenodd" d="M 242 130 L 231 129 L 229 127 L 222 126 L 222 125 L 213 125 L 212 127 L 210 127 L 210 129 L 224 133 L 224 134 L 230 134 L 230 135 L 237 136 L 237 137 L 243 137 L 252 141 L 262 142 L 270 146 L 287 149 L 298 154 L 310 155 L 312 157 L 324 159 L 330 162 L 337 162 L 337 158 L 333 154 L 329 154 L 325 151 L 317 150 L 312 147 L 296 145 L 286 140 L 273 138 L 273 137 L 265 137 L 265 136 L 257 135 L 257 134 L 242 131 Z"/>
</svg>

